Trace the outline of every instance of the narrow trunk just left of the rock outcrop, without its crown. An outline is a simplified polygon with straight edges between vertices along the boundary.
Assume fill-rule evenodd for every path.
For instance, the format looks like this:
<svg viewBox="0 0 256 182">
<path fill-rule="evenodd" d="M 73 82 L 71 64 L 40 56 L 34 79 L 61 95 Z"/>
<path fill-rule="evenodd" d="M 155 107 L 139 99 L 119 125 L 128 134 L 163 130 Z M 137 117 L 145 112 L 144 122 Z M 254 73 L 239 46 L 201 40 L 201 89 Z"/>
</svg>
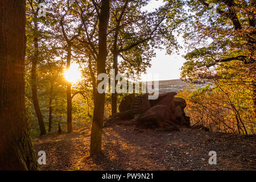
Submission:
<svg viewBox="0 0 256 182">
<path fill-rule="evenodd" d="M 118 59 L 118 53 L 117 52 L 114 52 L 113 53 L 113 68 L 115 70 L 114 72 L 114 76 L 116 77 L 117 76 L 117 73 L 118 73 L 118 67 L 117 67 L 117 59 Z M 114 82 L 115 82 L 115 86 L 117 85 L 117 80 L 115 80 L 115 77 L 114 77 Z M 114 88 L 115 89 L 115 88 Z M 117 113 L 117 92 L 115 90 L 115 93 L 112 93 L 112 115 Z"/>
</svg>

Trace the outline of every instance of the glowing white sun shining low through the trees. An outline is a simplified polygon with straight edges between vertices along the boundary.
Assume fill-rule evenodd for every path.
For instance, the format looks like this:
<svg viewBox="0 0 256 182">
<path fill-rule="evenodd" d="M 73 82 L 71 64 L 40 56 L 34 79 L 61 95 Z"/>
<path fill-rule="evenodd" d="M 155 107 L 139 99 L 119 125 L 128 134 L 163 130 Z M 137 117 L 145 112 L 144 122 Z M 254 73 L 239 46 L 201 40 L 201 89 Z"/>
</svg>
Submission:
<svg viewBox="0 0 256 182">
<path fill-rule="evenodd" d="M 68 70 L 64 72 L 65 79 L 71 83 L 75 83 L 81 79 L 81 71 L 79 64 L 71 64 Z"/>
</svg>

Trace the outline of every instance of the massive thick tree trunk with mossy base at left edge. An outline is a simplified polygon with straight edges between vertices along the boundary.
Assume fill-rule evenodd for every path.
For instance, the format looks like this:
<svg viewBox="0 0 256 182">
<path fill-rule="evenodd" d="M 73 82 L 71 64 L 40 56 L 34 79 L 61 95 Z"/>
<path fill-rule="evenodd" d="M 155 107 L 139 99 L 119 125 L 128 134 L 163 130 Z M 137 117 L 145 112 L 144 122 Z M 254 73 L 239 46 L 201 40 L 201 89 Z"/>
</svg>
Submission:
<svg viewBox="0 0 256 182">
<path fill-rule="evenodd" d="M 24 90 L 25 0 L 0 1 L 0 170 L 36 170 Z"/>
</svg>

